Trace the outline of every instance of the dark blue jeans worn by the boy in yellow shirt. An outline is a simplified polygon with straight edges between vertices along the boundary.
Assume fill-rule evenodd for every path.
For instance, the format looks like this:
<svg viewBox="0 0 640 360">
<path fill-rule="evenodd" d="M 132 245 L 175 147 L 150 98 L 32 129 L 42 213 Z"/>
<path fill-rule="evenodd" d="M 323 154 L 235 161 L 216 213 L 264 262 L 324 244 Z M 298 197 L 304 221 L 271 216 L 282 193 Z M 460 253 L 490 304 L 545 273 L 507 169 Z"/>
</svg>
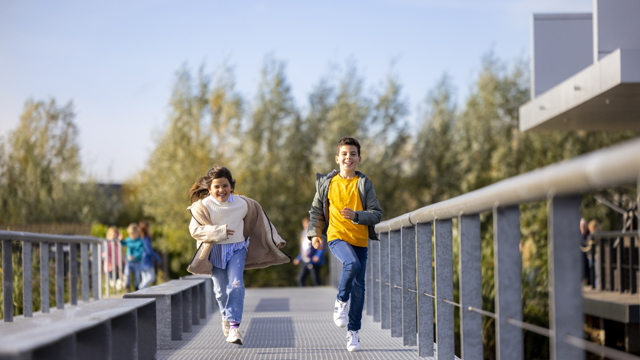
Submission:
<svg viewBox="0 0 640 360">
<path fill-rule="evenodd" d="M 364 276 L 367 271 L 367 248 L 353 246 L 340 239 L 329 241 L 329 249 L 342 263 L 338 300 L 349 305 L 349 325 L 347 329 L 358 331 L 361 327 L 362 308 L 364 307 Z"/>
</svg>

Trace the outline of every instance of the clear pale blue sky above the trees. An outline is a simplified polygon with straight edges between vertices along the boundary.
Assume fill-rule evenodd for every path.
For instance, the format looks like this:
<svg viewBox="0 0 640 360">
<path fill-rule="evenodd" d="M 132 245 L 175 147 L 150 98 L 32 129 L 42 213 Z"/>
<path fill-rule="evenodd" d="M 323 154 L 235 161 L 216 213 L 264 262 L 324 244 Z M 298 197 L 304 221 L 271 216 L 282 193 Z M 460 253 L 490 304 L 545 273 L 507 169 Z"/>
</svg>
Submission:
<svg viewBox="0 0 640 360">
<path fill-rule="evenodd" d="M 0 0 L 0 137 L 28 98 L 73 101 L 85 168 L 121 182 L 148 159 L 185 62 L 212 71 L 227 61 L 252 100 L 272 54 L 304 110 L 332 64 L 354 60 L 370 89 L 393 61 L 415 117 L 443 73 L 462 101 L 488 51 L 528 58 L 532 13 L 591 9 L 592 0 Z"/>
</svg>

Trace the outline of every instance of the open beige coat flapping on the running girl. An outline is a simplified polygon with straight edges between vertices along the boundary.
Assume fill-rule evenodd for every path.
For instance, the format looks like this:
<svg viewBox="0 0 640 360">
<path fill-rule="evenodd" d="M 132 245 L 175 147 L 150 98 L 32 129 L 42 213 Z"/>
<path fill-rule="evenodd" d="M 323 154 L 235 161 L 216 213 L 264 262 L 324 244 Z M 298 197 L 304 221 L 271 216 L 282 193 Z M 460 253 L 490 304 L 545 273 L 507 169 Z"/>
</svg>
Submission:
<svg viewBox="0 0 640 360">
<path fill-rule="evenodd" d="M 241 197 L 247 203 L 247 216 L 244 218 L 244 238 L 250 238 L 250 245 L 245 260 L 245 269 L 261 269 L 271 265 L 285 264 L 291 261 L 291 258 L 278 249 L 278 244 L 286 244 L 275 226 L 269 221 L 260 204 L 257 201 L 242 195 L 234 195 Z M 209 210 L 204 206 L 202 200 L 198 200 L 187 208 L 191 211 L 191 216 L 200 225 L 213 225 Z M 213 265 L 209 261 L 211 248 L 215 244 L 215 240 L 198 241 L 196 250 L 191 263 L 187 267 L 187 271 L 194 275 L 211 275 Z"/>
</svg>

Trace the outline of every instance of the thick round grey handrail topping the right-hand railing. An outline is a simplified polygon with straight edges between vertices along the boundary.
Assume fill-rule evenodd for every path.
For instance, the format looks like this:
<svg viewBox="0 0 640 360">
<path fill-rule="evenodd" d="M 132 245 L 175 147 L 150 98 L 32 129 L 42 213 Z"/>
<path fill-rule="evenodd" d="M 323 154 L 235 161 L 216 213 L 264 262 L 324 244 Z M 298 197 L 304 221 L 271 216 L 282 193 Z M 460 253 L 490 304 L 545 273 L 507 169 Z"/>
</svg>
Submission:
<svg viewBox="0 0 640 360">
<path fill-rule="evenodd" d="M 422 207 L 376 225 L 376 232 L 399 230 L 435 219 L 490 211 L 585 191 L 631 184 L 640 175 L 640 139 L 549 165 L 495 184 Z"/>
</svg>

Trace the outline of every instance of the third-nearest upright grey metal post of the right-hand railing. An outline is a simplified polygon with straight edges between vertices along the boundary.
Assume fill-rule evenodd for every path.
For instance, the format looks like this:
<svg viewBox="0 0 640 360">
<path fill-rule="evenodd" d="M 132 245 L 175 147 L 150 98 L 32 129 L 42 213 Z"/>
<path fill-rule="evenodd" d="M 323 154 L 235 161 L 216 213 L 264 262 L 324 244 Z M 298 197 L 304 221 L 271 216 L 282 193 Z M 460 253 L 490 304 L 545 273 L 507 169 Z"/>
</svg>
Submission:
<svg viewBox="0 0 640 360">
<path fill-rule="evenodd" d="M 482 267 L 480 265 L 480 216 L 460 215 L 460 342 L 462 358 L 482 360 L 482 315 L 469 307 L 482 309 Z"/>
</svg>

